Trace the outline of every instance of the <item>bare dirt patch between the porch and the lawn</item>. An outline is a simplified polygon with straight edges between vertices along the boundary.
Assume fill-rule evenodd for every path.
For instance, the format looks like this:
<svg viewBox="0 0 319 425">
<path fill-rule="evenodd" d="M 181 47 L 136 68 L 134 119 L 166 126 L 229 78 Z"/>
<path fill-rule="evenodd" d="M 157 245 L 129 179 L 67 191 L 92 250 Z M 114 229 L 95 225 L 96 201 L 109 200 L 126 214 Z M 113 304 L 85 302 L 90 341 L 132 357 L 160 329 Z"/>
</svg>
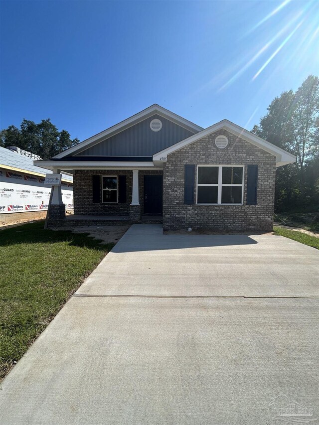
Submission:
<svg viewBox="0 0 319 425">
<path fill-rule="evenodd" d="M 120 226 L 63 226 L 55 227 L 50 230 L 71 230 L 74 233 L 89 233 L 94 239 L 102 239 L 102 241 L 107 244 L 116 244 L 130 227 L 130 224 Z"/>
</svg>

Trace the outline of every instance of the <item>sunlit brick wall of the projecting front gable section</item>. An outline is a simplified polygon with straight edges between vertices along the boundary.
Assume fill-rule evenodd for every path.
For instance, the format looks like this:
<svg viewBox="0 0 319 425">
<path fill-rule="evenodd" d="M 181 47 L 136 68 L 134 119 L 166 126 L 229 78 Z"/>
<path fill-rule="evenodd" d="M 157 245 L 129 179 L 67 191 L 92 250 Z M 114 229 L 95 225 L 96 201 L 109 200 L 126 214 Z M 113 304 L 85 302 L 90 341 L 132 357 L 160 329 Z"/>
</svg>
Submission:
<svg viewBox="0 0 319 425">
<path fill-rule="evenodd" d="M 228 146 L 218 149 L 215 138 Z M 245 165 L 243 205 L 184 205 L 185 164 Z M 258 164 L 257 205 L 246 205 L 247 165 Z M 167 156 L 163 170 L 163 228 L 217 231 L 271 231 L 274 214 L 275 156 L 220 130 Z M 196 176 L 195 176 L 196 202 Z"/>
</svg>

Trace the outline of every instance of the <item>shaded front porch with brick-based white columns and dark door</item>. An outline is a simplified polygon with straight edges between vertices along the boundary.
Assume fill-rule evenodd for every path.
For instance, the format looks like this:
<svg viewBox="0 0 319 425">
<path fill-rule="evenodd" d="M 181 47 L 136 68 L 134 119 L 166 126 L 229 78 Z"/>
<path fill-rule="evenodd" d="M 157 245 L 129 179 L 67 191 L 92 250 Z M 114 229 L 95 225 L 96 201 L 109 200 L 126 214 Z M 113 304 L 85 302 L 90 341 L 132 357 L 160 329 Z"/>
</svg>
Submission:
<svg viewBox="0 0 319 425">
<path fill-rule="evenodd" d="M 74 215 L 65 217 L 56 196 L 49 227 L 162 223 L 162 170 L 85 169 L 73 174 Z"/>
</svg>

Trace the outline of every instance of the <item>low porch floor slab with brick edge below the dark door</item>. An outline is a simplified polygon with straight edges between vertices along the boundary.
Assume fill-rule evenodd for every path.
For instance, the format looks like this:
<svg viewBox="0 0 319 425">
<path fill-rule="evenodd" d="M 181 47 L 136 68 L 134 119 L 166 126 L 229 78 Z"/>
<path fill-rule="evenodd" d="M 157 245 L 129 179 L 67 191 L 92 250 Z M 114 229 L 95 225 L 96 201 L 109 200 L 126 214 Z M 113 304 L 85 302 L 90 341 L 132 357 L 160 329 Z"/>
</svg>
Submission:
<svg viewBox="0 0 319 425">
<path fill-rule="evenodd" d="M 121 226 L 136 223 L 128 215 L 68 215 L 60 220 L 49 220 L 48 227 Z M 161 224 L 162 216 L 142 215 L 141 224 Z"/>
</svg>

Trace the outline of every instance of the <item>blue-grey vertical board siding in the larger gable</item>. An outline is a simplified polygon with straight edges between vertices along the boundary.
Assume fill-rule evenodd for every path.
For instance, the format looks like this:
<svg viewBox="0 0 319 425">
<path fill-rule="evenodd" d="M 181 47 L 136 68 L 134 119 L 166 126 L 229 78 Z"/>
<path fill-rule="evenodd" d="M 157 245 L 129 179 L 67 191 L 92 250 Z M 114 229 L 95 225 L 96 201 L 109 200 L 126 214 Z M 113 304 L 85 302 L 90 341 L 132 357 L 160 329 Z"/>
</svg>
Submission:
<svg viewBox="0 0 319 425">
<path fill-rule="evenodd" d="M 159 132 L 154 132 L 150 128 L 151 121 L 155 119 L 162 122 Z M 109 139 L 82 150 L 76 156 L 152 156 L 195 133 L 156 114 Z"/>
</svg>

